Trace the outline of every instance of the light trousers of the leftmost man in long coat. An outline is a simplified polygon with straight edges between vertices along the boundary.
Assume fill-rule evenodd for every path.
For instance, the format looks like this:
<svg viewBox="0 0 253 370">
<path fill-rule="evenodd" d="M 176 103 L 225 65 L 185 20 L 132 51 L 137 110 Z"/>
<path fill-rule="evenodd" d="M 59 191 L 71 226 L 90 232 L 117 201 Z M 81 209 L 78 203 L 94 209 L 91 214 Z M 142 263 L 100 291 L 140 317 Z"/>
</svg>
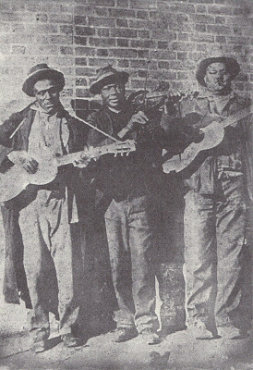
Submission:
<svg viewBox="0 0 253 370">
<path fill-rule="evenodd" d="M 56 192 L 57 193 L 57 192 Z M 56 195 L 56 196 L 55 196 Z M 56 277 L 60 334 L 70 333 L 76 324 L 79 306 L 74 295 L 73 225 L 68 222 L 65 197 L 39 190 L 35 200 L 20 211 L 24 243 L 24 267 L 32 302 L 30 329 L 35 336 L 50 334 L 49 291 Z M 57 298 L 53 297 L 53 298 Z"/>
</svg>

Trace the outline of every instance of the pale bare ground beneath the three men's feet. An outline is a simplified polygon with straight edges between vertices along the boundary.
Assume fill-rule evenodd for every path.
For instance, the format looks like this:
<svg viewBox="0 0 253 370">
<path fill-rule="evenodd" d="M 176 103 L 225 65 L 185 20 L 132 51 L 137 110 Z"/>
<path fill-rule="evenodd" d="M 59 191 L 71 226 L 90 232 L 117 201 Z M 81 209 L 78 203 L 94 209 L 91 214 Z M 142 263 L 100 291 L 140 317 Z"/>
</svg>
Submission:
<svg viewBox="0 0 253 370">
<path fill-rule="evenodd" d="M 108 333 L 90 338 L 81 347 L 67 349 L 59 342 L 54 325 L 52 348 L 35 354 L 31 339 L 23 330 L 24 307 L 2 303 L 0 313 L 0 369 L 253 369 L 253 333 L 230 341 L 195 340 L 183 330 L 154 346 L 145 344 L 140 337 L 113 343 L 114 334 Z"/>
</svg>

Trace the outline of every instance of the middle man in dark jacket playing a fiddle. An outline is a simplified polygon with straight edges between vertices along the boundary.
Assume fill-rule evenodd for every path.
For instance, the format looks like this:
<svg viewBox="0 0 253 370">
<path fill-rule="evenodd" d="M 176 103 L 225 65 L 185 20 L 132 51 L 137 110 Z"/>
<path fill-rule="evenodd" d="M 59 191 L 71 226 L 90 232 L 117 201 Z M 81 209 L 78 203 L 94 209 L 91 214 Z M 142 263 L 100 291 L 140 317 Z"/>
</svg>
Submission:
<svg viewBox="0 0 253 370">
<path fill-rule="evenodd" d="M 101 94 L 103 106 L 89 117 L 94 126 L 118 140 L 135 139 L 137 151 L 125 158 L 103 158 L 96 167 L 96 184 L 111 203 L 105 225 L 112 280 L 118 303 L 114 340 L 123 342 L 141 334 L 148 344 L 159 343 L 155 313 L 155 222 L 154 195 L 159 186 L 156 161 L 165 133 L 159 127 L 146 130 L 148 117 L 125 97 L 126 72 L 111 66 L 98 71 L 90 91 Z M 158 122 L 159 126 L 159 122 Z M 167 143 L 167 139 L 165 140 Z M 90 145 L 108 139 L 95 130 Z"/>
</svg>

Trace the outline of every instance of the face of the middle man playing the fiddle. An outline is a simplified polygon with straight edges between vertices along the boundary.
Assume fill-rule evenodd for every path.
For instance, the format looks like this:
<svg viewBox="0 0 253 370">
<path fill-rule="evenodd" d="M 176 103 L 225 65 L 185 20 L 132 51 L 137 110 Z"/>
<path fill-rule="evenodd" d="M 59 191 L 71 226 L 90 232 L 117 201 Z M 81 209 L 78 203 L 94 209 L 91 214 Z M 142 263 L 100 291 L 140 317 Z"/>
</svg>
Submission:
<svg viewBox="0 0 253 370">
<path fill-rule="evenodd" d="M 125 86 L 120 83 L 105 85 L 101 89 L 104 104 L 114 109 L 120 109 L 125 100 Z"/>
</svg>

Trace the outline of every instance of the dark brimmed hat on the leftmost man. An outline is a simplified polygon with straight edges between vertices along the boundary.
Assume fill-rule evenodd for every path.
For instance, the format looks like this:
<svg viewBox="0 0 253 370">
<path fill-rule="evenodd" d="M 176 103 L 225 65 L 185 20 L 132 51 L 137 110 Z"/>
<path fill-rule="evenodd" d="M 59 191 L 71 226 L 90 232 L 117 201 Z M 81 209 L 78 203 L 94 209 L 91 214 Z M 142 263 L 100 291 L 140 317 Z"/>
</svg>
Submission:
<svg viewBox="0 0 253 370">
<path fill-rule="evenodd" d="M 35 83 L 45 78 L 55 80 L 60 91 L 65 85 L 63 73 L 48 67 L 47 64 L 37 64 L 30 69 L 28 76 L 23 84 L 22 90 L 27 95 L 34 96 L 33 87 Z"/>
</svg>

